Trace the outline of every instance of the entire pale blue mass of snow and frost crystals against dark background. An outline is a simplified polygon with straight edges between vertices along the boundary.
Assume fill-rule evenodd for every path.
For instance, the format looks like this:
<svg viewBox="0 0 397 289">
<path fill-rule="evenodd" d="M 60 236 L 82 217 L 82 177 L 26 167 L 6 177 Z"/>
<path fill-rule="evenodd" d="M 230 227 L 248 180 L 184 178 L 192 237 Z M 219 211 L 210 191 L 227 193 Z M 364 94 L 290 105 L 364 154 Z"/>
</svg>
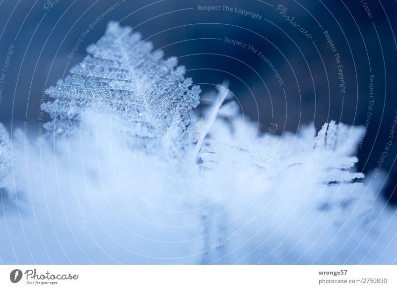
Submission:
<svg viewBox="0 0 397 289">
<path fill-rule="evenodd" d="M 261 133 L 226 83 L 197 107 L 176 58 L 114 22 L 87 51 L 43 140 L 0 126 L 1 263 L 396 263 L 359 128 Z"/>
</svg>

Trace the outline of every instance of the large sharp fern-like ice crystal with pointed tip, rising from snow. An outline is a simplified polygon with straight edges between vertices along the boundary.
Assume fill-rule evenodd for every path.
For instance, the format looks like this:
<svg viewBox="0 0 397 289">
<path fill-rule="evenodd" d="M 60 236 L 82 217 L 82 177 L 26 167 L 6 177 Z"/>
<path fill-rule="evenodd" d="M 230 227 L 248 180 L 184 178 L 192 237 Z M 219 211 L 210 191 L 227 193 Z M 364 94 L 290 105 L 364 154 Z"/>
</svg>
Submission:
<svg viewBox="0 0 397 289">
<path fill-rule="evenodd" d="M 110 113 L 127 141 L 141 149 L 166 141 L 173 151 L 197 141 L 192 109 L 199 104 L 199 86 L 184 78 L 185 67 L 174 57 L 142 41 L 131 27 L 110 22 L 106 34 L 87 48 L 88 56 L 56 87 L 46 90 L 53 102 L 42 105 L 52 121 L 45 128 L 57 134 L 75 131 L 88 109 Z M 177 139 L 169 139 L 178 136 Z"/>
</svg>

